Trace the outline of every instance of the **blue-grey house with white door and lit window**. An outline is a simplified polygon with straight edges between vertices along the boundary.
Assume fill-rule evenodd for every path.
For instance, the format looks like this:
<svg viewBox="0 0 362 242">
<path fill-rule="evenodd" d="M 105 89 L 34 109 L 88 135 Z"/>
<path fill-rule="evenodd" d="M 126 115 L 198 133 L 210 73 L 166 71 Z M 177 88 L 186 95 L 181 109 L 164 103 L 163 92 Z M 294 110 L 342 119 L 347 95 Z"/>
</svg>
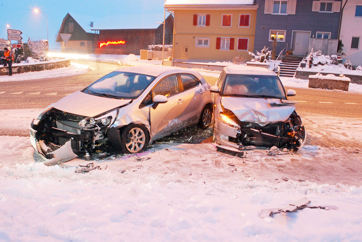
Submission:
<svg viewBox="0 0 362 242">
<path fill-rule="evenodd" d="M 254 50 L 264 46 L 307 55 L 313 49 L 336 54 L 341 0 L 256 0 Z M 274 40 L 276 39 L 276 43 Z"/>
</svg>

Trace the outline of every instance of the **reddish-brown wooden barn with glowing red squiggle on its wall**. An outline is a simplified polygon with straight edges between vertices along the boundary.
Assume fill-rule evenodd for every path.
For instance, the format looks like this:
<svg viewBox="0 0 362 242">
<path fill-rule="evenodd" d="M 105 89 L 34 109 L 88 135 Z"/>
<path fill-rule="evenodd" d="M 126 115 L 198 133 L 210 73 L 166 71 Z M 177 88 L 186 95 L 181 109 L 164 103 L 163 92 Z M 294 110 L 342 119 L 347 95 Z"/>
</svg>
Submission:
<svg viewBox="0 0 362 242">
<path fill-rule="evenodd" d="M 172 44 L 173 16 L 165 20 L 165 44 Z M 92 29 L 99 31 L 96 39 L 96 54 L 135 54 L 147 50 L 151 44 L 163 43 L 163 24 L 156 29 Z"/>
</svg>

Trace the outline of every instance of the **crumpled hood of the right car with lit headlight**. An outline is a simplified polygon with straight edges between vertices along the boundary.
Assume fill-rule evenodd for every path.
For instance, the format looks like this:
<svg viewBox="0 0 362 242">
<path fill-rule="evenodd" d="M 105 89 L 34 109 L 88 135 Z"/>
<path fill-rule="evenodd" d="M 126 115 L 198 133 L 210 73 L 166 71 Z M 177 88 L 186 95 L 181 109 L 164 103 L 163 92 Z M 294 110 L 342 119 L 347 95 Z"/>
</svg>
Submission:
<svg viewBox="0 0 362 242">
<path fill-rule="evenodd" d="M 283 103 L 289 102 L 289 103 Z M 293 101 L 277 98 L 222 97 L 225 109 L 231 110 L 240 121 L 261 125 L 285 121 L 296 109 Z"/>
</svg>

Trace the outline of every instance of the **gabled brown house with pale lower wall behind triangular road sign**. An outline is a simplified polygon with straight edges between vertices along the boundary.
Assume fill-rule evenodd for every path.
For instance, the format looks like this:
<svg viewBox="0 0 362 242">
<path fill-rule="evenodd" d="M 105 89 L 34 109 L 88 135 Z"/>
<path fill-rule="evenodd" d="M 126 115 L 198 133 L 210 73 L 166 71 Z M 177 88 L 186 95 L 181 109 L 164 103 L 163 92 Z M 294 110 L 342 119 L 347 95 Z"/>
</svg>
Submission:
<svg viewBox="0 0 362 242">
<path fill-rule="evenodd" d="M 89 22 L 89 27 L 93 27 L 93 22 Z M 64 43 L 59 34 L 71 34 L 67 44 Z M 94 53 L 97 35 L 98 34 L 95 33 L 87 33 L 87 31 L 67 13 L 63 18 L 56 42 L 60 42 L 60 52 Z"/>
</svg>

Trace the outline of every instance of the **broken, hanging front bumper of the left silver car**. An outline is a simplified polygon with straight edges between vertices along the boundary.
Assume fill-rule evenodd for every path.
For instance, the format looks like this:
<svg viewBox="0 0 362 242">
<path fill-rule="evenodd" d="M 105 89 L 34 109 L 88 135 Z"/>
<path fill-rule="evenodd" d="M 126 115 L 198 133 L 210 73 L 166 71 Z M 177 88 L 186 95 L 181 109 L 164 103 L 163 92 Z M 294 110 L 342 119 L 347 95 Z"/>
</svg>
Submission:
<svg viewBox="0 0 362 242">
<path fill-rule="evenodd" d="M 37 151 L 45 160 L 45 165 L 56 165 L 62 162 L 73 160 L 77 157 L 77 155 L 74 154 L 72 150 L 70 140 L 62 145 L 62 147 L 59 149 L 49 152 L 51 149 L 47 147 L 44 141 L 37 139 L 37 131 L 34 129 L 34 121 L 39 122 L 39 120 L 33 119 L 30 123 L 30 143 L 34 150 Z"/>
</svg>

